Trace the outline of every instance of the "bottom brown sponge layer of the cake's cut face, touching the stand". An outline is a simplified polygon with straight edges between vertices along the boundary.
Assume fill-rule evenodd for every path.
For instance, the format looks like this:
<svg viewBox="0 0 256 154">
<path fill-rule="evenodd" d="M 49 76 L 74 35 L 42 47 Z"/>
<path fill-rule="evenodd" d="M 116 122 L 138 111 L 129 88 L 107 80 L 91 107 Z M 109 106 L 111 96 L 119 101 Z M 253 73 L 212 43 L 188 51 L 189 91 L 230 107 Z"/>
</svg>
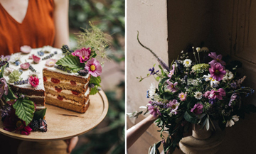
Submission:
<svg viewBox="0 0 256 154">
<path fill-rule="evenodd" d="M 67 101 L 60 101 L 59 99 L 55 99 L 53 97 L 46 97 L 47 104 L 51 104 L 54 106 L 59 106 L 63 109 L 68 109 L 71 111 L 77 111 L 80 113 L 85 113 L 85 111 L 88 109 L 90 101 L 89 99 L 85 102 L 84 105 L 78 105 L 78 104 L 70 104 Z"/>
</svg>

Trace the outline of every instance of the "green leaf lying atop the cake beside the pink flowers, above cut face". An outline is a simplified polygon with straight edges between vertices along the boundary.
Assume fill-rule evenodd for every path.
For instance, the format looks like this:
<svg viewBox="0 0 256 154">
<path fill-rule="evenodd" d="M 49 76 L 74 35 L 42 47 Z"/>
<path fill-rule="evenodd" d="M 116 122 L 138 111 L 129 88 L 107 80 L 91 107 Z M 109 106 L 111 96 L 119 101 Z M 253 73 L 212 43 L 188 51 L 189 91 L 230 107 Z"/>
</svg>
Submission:
<svg viewBox="0 0 256 154">
<path fill-rule="evenodd" d="M 85 64 L 80 63 L 78 57 L 73 55 L 66 55 L 56 62 L 56 65 L 63 65 L 69 67 L 71 70 L 84 70 Z"/>
</svg>

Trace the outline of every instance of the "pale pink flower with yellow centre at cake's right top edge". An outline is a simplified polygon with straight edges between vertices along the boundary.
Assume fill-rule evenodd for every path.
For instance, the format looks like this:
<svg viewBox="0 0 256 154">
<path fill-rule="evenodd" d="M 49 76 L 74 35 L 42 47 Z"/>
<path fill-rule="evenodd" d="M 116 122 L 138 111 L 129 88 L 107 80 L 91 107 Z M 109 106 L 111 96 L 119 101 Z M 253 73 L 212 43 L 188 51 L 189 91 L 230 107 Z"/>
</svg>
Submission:
<svg viewBox="0 0 256 154">
<path fill-rule="evenodd" d="M 100 65 L 99 61 L 92 57 L 92 59 L 88 60 L 86 63 L 85 70 L 88 70 L 90 75 L 93 77 L 98 77 L 102 72 L 102 66 Z"/>
</svg>

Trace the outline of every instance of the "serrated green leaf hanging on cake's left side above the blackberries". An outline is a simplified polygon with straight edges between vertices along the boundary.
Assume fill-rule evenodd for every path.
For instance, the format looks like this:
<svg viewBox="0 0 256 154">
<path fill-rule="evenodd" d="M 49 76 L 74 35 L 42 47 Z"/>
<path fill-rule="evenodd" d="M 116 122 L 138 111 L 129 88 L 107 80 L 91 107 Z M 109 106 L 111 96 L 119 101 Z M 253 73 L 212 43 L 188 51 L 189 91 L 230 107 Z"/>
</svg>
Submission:
<svg viewBox="0 0 256 154">
<path fill-rule="evenodd" d="M 13 105 L 16 109 L 15 114 L 19 119 L 25 121 L 26 126 L 31 123 L 33 119 L 33 113 L 35 112 L 35 105 L 33 101 L 29 99 L 18 99 Z"/>
</svg>

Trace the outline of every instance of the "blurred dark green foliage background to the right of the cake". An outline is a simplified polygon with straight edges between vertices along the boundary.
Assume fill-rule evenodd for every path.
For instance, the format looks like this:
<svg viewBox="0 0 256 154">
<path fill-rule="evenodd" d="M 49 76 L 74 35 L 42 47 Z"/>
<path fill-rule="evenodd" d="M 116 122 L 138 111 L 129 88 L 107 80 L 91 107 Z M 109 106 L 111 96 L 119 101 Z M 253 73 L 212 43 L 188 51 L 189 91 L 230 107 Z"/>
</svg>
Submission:
<svg viewBox="0 0 256 154">
<path fill-rule="evenodd" d="M 70 38 L 73 33 L 89 28 L 89 21 L 112 36 L 108 57 L 114 62 L 124 61 L 124 0 L 70 0 Z M 118 70 L 124 74 L 124 69 Z M 107 116 L 92 131 L 80 136 L 72 154 L 124 153 L 124 79 L 114 90 L 105 89 L 111 104 Z M 117 91 L 122 91 L 121 97 Z"/>
</svg>

